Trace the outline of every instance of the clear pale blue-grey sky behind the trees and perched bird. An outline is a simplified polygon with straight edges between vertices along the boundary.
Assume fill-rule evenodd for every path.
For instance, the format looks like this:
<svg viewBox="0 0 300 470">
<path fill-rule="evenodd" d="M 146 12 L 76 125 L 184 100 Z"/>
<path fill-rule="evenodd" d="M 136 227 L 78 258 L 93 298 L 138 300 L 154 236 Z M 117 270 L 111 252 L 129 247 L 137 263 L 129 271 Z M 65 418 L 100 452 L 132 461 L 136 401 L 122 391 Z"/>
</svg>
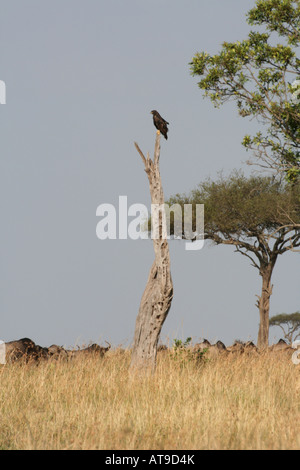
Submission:
<svg viewBox="0 0 300 470">
<path fill-rule="evenodd" d="M 166 198 L 207 176 L 250 169 L 250 126 L 233 105 L 202 99 L 189 65 L 246 37 L 244 0 L 10 0 L 2 2 L 0 338 L 39 344 L 129 344 L 153 261 L 151 241 L 100 241 L 96 208 L 149 204 L 133 142 L 162 141 Z M 174 300 L 162 338 L 229 344 L 257 336 L 258 272 L 229 247 L 170 243 Z M 300 308 L 299 255 L 278 261 L 271 314 Z M 270 338 L 276 335 L 271 330 Z"/>
</svg>

